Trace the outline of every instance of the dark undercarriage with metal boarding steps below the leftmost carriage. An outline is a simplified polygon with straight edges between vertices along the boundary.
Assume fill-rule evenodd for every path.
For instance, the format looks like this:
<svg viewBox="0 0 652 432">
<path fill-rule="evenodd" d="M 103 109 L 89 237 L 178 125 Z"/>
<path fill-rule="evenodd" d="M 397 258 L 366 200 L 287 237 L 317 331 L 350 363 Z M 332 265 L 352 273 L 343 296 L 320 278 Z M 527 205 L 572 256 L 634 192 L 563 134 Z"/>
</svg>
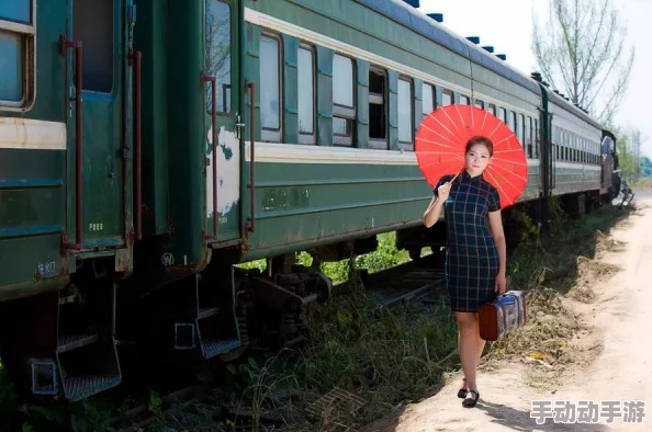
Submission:
<svg viewBox="0 0 652 432">
<path fill-rule="evenodd" d="M 3 309 L 2 366 L 22 397 L 76 401 L 121 384 L 115 289 L 111 277 L 99 278 Z"/>
</svg>

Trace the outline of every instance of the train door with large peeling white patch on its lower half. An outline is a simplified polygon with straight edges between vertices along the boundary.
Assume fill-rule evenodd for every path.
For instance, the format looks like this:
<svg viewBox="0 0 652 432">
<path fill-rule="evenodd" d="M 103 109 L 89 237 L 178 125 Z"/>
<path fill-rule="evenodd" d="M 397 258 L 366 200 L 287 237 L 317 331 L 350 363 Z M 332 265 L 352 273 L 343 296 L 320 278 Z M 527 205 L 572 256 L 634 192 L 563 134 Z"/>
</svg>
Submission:
<svg viewBox="0 0 652 432">
<path fill-rule="evenodd" d="M 205 2 L 206 232 L 213 240 L 240 237 L 240 0 Z M 213 141 L 216 140 L 216 151 Z M 215 214 L 217 220 L 215 220 Z"/>
</svg>

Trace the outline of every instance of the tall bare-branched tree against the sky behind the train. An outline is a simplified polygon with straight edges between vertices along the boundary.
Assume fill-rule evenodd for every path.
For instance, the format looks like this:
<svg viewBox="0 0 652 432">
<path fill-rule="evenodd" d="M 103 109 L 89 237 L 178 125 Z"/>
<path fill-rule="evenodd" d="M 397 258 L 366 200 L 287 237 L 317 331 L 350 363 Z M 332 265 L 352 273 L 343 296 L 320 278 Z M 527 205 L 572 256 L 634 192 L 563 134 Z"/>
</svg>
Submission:
<svg viewBox="0 0 652 432">
<path fill-rule="evenodd" d="M 611 0 L 549 1 L 547 23 L 532 16 L 532 50 L 542 78 L 599 122 L 608 122 L 622 101 L 634 61 L 633 46 L 625 46 L 627 31 L 619 13 Z"/>
</svg>

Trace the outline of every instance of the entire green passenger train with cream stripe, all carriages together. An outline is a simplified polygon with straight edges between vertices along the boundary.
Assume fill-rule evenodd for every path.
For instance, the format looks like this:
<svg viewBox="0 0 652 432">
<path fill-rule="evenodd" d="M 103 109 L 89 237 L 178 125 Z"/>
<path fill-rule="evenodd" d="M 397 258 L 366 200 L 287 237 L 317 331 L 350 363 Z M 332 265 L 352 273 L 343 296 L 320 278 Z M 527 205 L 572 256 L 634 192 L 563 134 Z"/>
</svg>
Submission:
<svg viewBox="0 0 652 432">
<path fill-rule="evenodd" d="M 319 262 L 394 230 L 413 257 L 446 245 L 423 228 L 414 154 L 438 106 L 515 130 L 529 180 L 514 208 L 546 223 L 547 197 L 607 196 L 611 134 L 409 3 L 3 2 L 0 359 L 16 388 L 119 386 L 119 341 L 189 362 L 302 341 L 303 308 L 330 291 Z"/>
</svg>

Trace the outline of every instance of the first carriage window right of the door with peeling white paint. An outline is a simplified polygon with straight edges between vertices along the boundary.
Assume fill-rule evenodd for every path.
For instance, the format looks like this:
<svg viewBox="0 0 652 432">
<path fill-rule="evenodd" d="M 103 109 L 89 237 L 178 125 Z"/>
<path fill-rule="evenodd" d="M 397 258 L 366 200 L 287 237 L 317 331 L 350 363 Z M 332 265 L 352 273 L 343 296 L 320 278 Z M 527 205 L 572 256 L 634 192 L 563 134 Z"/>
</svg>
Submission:
<svg viewBox="0 0 652 432">
<path fill-rule="evenodd" d="M 265 141 L 281 140 L 281 39 L 260 36 L 260 128 Z"/>
</svg>

